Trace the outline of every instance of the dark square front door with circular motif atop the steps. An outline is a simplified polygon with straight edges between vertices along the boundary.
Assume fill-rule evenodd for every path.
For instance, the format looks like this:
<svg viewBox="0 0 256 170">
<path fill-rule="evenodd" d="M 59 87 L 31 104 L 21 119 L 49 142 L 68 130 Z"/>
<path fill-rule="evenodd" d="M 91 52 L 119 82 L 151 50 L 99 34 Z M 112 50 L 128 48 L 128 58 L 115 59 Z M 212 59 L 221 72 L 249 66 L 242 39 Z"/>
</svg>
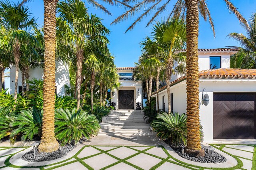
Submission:
<svg viewBox="0 0 256 170">
<path fill-rule="evenodd" d="M 118 109 L 134 109 L 134 90 L 118 91 Z"/>
</svg>

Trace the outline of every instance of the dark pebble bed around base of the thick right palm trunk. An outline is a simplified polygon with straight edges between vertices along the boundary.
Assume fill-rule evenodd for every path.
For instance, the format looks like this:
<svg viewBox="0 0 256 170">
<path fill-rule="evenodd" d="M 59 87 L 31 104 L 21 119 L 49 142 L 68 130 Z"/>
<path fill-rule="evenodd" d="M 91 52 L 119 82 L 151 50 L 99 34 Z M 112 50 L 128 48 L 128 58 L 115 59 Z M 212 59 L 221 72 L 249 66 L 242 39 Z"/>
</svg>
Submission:
<svg viewBox="0 0 256 170">
<path fill-rule="evenodd" d="M 178 155 L 180 155 L 182 158 L 185 158 L 187 160 L 192 160 L 194 162 L 201 162 L 201 163 L 223 163 L 226 162 L 226 158 L 224 156 L 222 156 L 221 154 L 219 154 L 218 152 L 215 152 L 214 150 L 209 150 L 206 148 L 206 146 L 202 145 L 202 149 L 205 150 L 205 156 L 193 156 L 191 154 L 186 154 L 184 151 L 184 144 L 179 144 L 178 146 L 171 144 L 169 141 L 165 141 Z M 211 156 L 212 154 L 212 156 Z M 211 158 L 212 159 L 211 159 Z"/>
</svg>

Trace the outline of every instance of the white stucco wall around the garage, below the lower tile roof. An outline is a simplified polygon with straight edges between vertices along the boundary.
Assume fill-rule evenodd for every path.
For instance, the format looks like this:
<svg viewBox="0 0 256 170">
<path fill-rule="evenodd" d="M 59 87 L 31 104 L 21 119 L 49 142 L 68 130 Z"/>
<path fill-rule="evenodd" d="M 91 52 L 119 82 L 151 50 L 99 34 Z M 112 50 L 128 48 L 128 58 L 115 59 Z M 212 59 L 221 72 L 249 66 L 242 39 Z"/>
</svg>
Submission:
<svg viewBox="0 0 256 170">
<path fill-rule="evenodd" d="M 256 92 L 255 79 L 237 79 L 237 80 L 200 80 L 199 99 L 202 100 L 203 89 L 207 90 L 209 95 L 209 104 L 204 106 L 200 104 L 200 121 L 203 126 L 204 142 L 213 142 L 213 94 L 214 92 Z M 174 113 L 186 113 L 186 81 L 182 81 L 171 88 L 174 93 Z M 162 109 L 162 96 L 166 96 L 167 91 L 159 93 L 159 107 Z M 156 97 L 156 95 L 154 95 Z M 168 108 L 168 101 L 166 101 Z M 168 110 L 166 110 L 168 111 Z"/>
</svg>

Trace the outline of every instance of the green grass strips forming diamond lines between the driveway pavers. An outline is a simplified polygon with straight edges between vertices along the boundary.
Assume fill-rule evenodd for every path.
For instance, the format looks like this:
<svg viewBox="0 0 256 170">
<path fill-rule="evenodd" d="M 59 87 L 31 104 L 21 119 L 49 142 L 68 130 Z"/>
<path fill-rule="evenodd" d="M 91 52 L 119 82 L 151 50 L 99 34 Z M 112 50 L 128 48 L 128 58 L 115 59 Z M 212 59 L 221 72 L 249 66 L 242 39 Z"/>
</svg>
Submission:
<svg viewBox="0 0 256 170">
<path fill-rule="evenodd" d="M 15 154 L 25 150 L 26 148 L 28 147 L 0 147 L 0 150 L 6 150 L 6 149 L 9 149 L 9 148 L 24 148 L 14 154 L 9 154 L 9 155 L 5 155 L 7 156 L 4 164 L 5 166 L 2 166 L 0 168 L 5 168 L 5 167 L 12 167 L 12 168 L 40 168 L 40 170 L 52 170 L 52 169 L 55 169 L 55 168 L 59 168 L 59 167 L 62 167 L 62 166 L 66 166 L 68 164 L 72 164 L 74 162 L 79 162 L 80 164 L 84 165 L 84 167 L 88 168 L 89 170 L 93 170 L 93 168 L 91 166 L 89 166 L 88 164 L 86 164 L 84 162 L 84 160 L 88 159 L 88 158 L 92 158 L 94 156 L 97 156 L 97 155 L 100 155 L 100 154 L 107 154 L 108 156 L 111 156 L 112 158 L 116 159 L 116 162 L 113 163 L 113 164 L 110 164 L 104 168 L 102 168 L 101 170 L 105 170 L 107 168 L 111 168 L 113 166 L 115 166 L 116 164 L 119 164 L 121 162 L 125 163 L 125 164 L 128 164 L 129 166 L 132 166 L 138 170 L 142 170 L 142 168 L 134 165 L 134 164 L 131 164 L 130 162 L 128 162 L 128 159 L 130 158 L 133 158 L 134 156 L 137 156 L 139 154 L 147 154 L 149 156 L 152 156 L 154 158 L 158 158 L 160 159 L 160 162 L 158 162 L 158 164 L 154 165 L 152 168 L 150 168 L 150 170 L 156 170 L 157 168 L 159 168 L 162 164 L 166 163 L 166 162 L 170 162 L 172 164 L 176 164 L 178 166 L 182 166 L 184 168 L 188 168 L 188 169 L 191 169 L 191 170 L 206 170 L 206 169 L 213 169 L 213 170 L 234 170 L 234 169 L 241 169 L 243 170 L 242 166 L 243 166 L 243 162 L 242 160 L 240 160 L 240 158 L 243 158 L 243 157 L 240 157 L 240 156 L 236 156 L 236 155 L 232 155 L 226 151 L 223 150 L 223 148 L 231 148 L 231 147 L 228 147 L 229 145 L 238 145 L 238 144 L 210 144 L 211 146 L 213 146 L 214 148 L 218 149 L 218 150 L 221 150 L 222 152 L 232 156 L 233 158 L 236 159 L 237 161 L 237 164 L 233 167 L 229 167 L 229 168 L 210 168 L 210 167 L 202 167 L 202 166 L 197 166 L 196 165 L 196 162 L 195 165 L 194 164 L 188 164 L 186 162 L 183 162 L 179 159 L 176 159 L 174 158 L 172 155 L 170 155 L 168 153 L 168 151 L 164 148 L 164 146 L 158 146 L 158 147 L 161 147 L 162 150 L 166 153 L 166 158 L 162 158 L 162 157 L 159 157 L 159 156 L 156 156 L 154 154 L 150 154 L 150 153 L 147 153 L 146 151 L 147 150 L 150 150 L 152 148 L 154 148 L 155 146 L 145 146 L 145 149 L 144 150 L 138 150 L 136 149 L 136 146 L 116 146 L 115 148 L 111 148 L 109 150 L 102 150 L 100 148 L 97 148 L 97 146 L 83 146 L 74 156 L 71 156 L 70 158 L 66 159 L 66 160 L 63 160 L 61 162 L 57 162 L 57 163 L 54 163 L 54 164 L 49 164 L 49 165 L 45 165 L 45 166 L 16 166 L 16 165 L 13 165 L 10 163 L 10 158 L 12 156 L 14 156 Z M 220 146 L 219 148 L 217 146 Z M 248 145 L 248 146 L 253 146 L 254 147 L 254 152 L 253 152 L 253 158 L 252 158 L 252 170 L 256 170 L 256 145 Z M 84 158 L 78 158 L 78 155 L 82 152 L 82 150 L 84 150 L 84 148 L 86 147 L 92 147 L 98 151 L 100 151 L 99 153 L 97 154 L 94 154 L 94 155 L 90 155 L 90 156 L 86 156 Z M 115 150 L 117 148 L 120 148 L 120 147 L 126 147 L 126 148 L 130 148 L 132 150 L 135 150 L 137 153 L 131 155 L 131 156 L 128 156 L 124 159 L 120 159 L 112 154 L 109 153 L 109 151 L 111 150 Z M 141 146 L 140 146 L 141 147 Z M 241 151 L 244 151 L 244 152 L 249 152 L 249 153 L 252 153 L 250 151 L 246 151 L 246 150 L 242 150 L 242 149 L 237 149 L 237 148 L 231 148 L 231 149 L 235 149 L 235 150 L 241 150 Z M 1 156 L 0 156 L 1 157 Z M 4 157 L 4 156 L 2 156 Z M 69 160 L 71 160 L 72 158 L 74 158 L 75 160 L 72 160 L 70 162 L 67 162 Z M 171 158 L 171 159 L 170 159 Z M 248 158 L 243 158 L 243 159 L 246 159 L 246 160 L 250 160 Z M 100 162 L 100 160 L 99 160 Z M 54 166 L 55 165 L 55 166 Z M 49 167 L 49 166 L 52 166 L 52 167 Z M 48 168 L 49 167 L 49 168 Z"/>
</svg>

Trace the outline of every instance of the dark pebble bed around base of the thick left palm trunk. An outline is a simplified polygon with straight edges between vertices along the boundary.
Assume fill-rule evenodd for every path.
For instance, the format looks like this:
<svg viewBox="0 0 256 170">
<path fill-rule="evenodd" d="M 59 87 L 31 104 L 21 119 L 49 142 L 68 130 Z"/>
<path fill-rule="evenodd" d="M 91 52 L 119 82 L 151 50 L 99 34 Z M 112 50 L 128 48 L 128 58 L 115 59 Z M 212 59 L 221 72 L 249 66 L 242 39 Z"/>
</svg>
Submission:
<svg viewBox="0 0 256 170">
<path fill-rule="evenodd" d="M 80 142 L 78 144 L 74 144 L 74 142 L 72 142 L 71 144 L 66 144 L 65 146 L 59 146 L 59 149 L 52 153 L 47 153 L 47 152 L 39 153 L 38 148 L 36 147 L 36 159 L 34 159 L 34 149 L 22 155 L 22 159 L 28 162 L 43 162 L 43 161 L 58 159 L 65 156 L 71 150 L 76 148 L 76 146 L 78 146 Z"/>
</svg>

